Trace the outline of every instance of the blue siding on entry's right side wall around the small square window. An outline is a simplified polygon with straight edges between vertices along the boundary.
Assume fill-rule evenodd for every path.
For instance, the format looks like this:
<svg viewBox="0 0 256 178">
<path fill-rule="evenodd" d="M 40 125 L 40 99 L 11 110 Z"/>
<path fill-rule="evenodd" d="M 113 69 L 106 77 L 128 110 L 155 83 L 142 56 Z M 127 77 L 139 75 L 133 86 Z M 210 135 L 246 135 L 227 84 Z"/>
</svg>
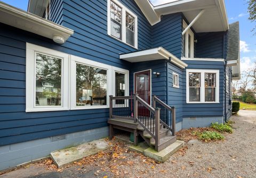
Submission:
<svg viewBox="0 0 256 178">
<path fill-rule="evenodd" d="M 174 106 L 176 109 L 176 123 L 182 121 L 183 102 L 186 100 L 186 95 L 183 94 L 183 89 L 186 89 L 185 70 L 167 62 L 167 104 Z M 173 72 L 179 75 L 179 88 L 173 87 Z"/>
</svg>

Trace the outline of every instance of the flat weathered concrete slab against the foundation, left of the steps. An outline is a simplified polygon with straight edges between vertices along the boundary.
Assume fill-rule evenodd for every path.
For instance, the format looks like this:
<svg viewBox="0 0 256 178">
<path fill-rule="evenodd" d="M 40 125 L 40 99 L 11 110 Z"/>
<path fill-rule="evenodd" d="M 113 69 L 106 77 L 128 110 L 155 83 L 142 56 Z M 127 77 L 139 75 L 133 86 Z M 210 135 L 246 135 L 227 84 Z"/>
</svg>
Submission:
<svg viewBox="0 0 256 178">
<path fill-rule="evenodd" d="M 50 156 L 60 168 L 83 157 L 97 154 L 99 151 L 106 150 L 111 146 L 112 145 L 108 145 L 105 139 L 100 139 L 76 147 L 53 151 Z"/>
</svg>

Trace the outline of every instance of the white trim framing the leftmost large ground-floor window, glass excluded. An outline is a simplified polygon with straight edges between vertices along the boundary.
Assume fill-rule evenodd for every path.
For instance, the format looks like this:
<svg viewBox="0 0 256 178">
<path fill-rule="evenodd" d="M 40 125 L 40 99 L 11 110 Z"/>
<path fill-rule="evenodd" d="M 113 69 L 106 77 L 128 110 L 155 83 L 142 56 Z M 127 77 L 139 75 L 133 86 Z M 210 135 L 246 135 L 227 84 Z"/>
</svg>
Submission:
<svg viewBox="0 0 256 178">
<path fill-rule="evenodd" d="M 42 53 L 49 56 L 62 58 L 62 79 L 61 79 L 61 106 L 35 106 L 35 54 Z M 69 109 L 69 55 L 57 50 L 26 44 L 26 112 L 62 111 Z"/>
</svg>

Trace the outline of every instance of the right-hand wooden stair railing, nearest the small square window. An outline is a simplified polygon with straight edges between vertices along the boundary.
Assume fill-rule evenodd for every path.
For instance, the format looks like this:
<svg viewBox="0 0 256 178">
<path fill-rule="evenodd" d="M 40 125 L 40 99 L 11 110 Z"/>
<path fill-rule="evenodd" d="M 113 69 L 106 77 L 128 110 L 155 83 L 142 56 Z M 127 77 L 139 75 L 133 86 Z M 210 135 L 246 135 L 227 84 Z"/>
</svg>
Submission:
<svg viewBox="0 0 256 178">
<path fill-rule="evenodd" d="M 175 135 L 175 107 L 170 107 L 155 95 L 152 98 L 153 107 L 161 108 L 160 122 L 164 125 L 164 128 L 169 129 L 172 135 Z M 171 118 L 170 118 L 171 117 Z"/>
</svg>

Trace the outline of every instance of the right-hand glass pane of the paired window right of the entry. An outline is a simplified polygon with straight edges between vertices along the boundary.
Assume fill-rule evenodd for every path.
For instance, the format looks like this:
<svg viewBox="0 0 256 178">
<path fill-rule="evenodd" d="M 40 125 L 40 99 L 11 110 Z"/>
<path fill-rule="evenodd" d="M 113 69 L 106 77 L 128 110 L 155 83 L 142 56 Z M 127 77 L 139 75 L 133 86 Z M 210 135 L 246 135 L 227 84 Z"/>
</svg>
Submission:
<svg viewBox="0 0 256 178">
<path fill-rule="evenodd" d="M 205 101 L 215 101 L 216 73 L 204 73 Z"/>
</svg>

